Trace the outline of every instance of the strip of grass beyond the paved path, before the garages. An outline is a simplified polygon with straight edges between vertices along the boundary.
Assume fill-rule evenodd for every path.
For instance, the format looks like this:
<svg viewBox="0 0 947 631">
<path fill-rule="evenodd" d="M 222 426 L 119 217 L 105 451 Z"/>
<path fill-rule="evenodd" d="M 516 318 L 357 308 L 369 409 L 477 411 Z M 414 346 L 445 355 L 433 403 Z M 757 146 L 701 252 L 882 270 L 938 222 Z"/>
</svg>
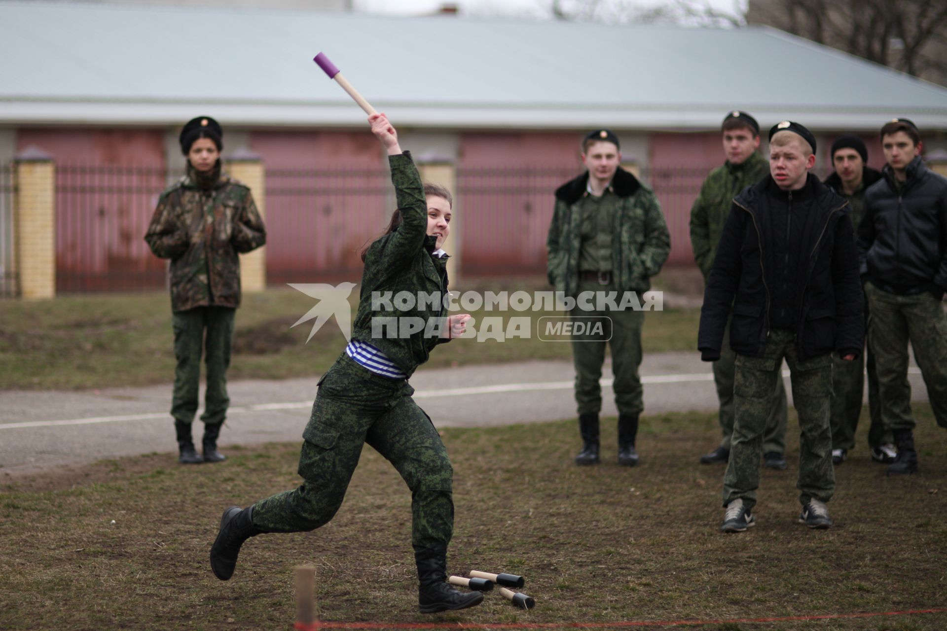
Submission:
<svg viewBox="0 0 947 631">
<path fill-rule="evenodd" d="M 531 282 L 459 289 L 549 289 Z M 353 306 L 357 297 L 357 290 L 353 291 Z M 237 312 L 228 377 L 278 379 L 325 372 L 345 345 L 338 325 L 334 321 L 324 325 L 309 343 L 312 322 L 290 328 L 314 304 L 289 288 L 245 295 Z M 173 380 L 170 299 L 163 291 L 4 301 L 0 314 L 0 389 L 95 389 Z M 473 312 L 477 321 L 485 315 L 528 315 L 534 331 L 539 318 L 554 314 L 561 312 Z M 699 310 L 693 308 L 648 313 L 645 350 L 695 349 L 699 317 Z M 543 342 L 537 337 L 456 344 L 451 351 L 432 354 L 426 367 L 571 357 L 568 343 Z"/>
</svg>

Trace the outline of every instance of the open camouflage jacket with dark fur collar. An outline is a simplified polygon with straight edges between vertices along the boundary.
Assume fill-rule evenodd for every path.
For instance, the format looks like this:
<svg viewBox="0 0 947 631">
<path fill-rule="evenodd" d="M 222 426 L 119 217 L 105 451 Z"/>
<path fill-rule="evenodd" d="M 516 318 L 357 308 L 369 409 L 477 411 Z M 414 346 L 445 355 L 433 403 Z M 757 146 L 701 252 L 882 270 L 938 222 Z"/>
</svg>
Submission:
<svg viewBox="0 0 947 631">
<path fill-rule="evenodd" d="M 579 290 L 582 198 L 588 171 L 556 190 L 556 206 L 545 246 L 549 284 L 567 296 Z M 647 291 L 670 254 L 670 234 L 651 188 L 618 167 L 612 189 L 619 200 L 612 232 L 612 276 L 618 291 Z"/>
</svg>

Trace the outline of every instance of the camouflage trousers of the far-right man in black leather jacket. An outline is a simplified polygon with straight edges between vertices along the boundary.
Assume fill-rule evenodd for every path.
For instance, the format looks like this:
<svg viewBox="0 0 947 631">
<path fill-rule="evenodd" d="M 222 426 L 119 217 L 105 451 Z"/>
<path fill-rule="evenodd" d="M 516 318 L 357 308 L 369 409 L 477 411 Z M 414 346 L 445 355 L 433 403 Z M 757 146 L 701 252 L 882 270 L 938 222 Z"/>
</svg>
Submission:
<svg viewBox="0 0 947 631">
<path fill-rule="evenodd" d="M 868 348 L 876 361 L 881 416 L 885 429 L 914 429 L 911 384 L 907 380 L 907 342 L 938 425 L 947 428 L 947 316 L 930 293 L 899 296 L 865 284 L 871 308 Z"/>
</svg>

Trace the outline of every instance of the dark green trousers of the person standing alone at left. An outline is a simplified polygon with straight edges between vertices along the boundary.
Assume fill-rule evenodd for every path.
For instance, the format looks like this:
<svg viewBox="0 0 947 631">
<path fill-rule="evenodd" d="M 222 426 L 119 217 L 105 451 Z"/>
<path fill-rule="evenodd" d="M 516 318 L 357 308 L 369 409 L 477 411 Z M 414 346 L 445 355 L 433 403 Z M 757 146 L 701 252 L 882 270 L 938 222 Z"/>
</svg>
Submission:
<svg viewBox="0 0 947 631">
<path fill-rule="evenodd" d="M 201 355 L 205 353 L 207 389 L 201 420 L 206 425 L 219 425 L 226 417 L 230 397 L 227 396 L 227 368 L 234 337 L 234 313 L 230 307 L 194 307 L 175 311 L 174 327 L 174 393 L 171 416 L 190 425 L 197 413 L 201 381 Z"/>
</svg>

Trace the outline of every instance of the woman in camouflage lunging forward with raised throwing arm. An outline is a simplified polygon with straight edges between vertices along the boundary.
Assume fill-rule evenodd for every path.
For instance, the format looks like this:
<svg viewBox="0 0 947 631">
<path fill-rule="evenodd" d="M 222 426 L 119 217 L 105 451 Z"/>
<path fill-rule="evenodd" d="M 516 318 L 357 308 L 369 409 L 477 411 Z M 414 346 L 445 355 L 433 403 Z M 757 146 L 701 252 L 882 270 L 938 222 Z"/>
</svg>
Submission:
<svg viewBox="0 0 947 631">
<path fill-rule="evenodd" d="M 447 545 L 454 529 L 453 469 L 438 430 L 411 398 L 407 377 L 440 342 L 462 334 L 469 315 L 445 317 L 442 303 L 417 302 L 410 310 L 373 306 L 372 294 L 401 291 L 443 296 L 447 256 L 440 244 L 450 233 L 451 196 L 422 185 L 411 155 L 384 114 L 368 118 L 388 153 L 398 208 L 383 237 L 364 253 L 365 271 L 351 341 L 319 381 L 309 424 L 303 431 L 299 476 L 292 491 L 223 513 L 210 551 L 214 574 L 225 581 L 241 545 L 261 533 L 312 531 L 327 523 L 345 498 L 348 481 L 367 443 L 381 453 L 411 489 L 411 543 L 419 578 L 421 613 L 478 605 L 483 594 L 461 593 L 445 582 Z M 409 337 L 392 336 L 374 324 L 408 318 L 434 324 Z M 425 329 L 427 326 L 425 326 Z"/>
</svg>

